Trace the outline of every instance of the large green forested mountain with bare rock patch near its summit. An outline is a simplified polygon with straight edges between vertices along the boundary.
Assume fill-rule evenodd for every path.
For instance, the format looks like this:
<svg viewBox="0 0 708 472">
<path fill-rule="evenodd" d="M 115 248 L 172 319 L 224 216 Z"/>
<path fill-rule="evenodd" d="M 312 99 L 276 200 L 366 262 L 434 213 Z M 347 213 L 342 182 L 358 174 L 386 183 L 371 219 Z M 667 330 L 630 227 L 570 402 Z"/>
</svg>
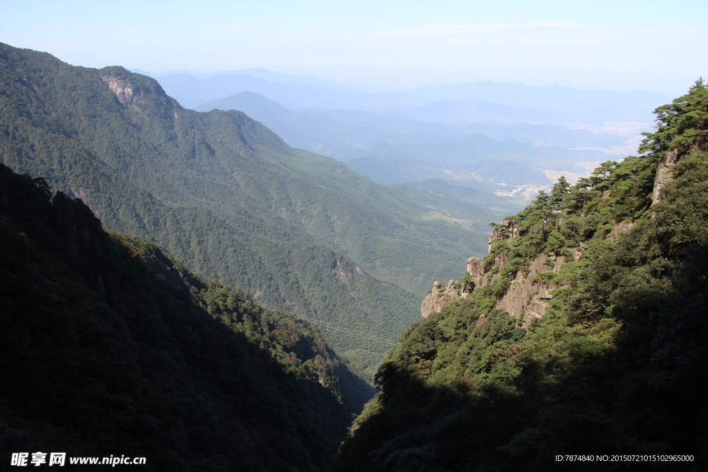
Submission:
<svg viewBox="0 0 708 472">
<path fill-rule="evenodd" d="M 415 320 L 414 293 L 484 251 L 489 212 L 372 183 L 244 113 L 186 110 L 122 67 L 0 44 L 0 91 L 0 162 L 195 273 L 346 328 L 323 330 L 370 375 L 393 344 L 377 338 Z"/>
</svg>

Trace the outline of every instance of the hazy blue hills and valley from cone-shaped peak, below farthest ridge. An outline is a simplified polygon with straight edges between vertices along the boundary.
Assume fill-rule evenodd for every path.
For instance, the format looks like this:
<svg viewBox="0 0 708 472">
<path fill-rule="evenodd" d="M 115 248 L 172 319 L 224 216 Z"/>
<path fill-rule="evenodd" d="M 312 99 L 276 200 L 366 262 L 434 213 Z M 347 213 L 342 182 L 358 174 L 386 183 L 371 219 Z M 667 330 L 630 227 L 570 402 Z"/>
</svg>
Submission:
<svg viewBox="0 0 708 472">
<path fill-rule="evenodd" d="M 379 183 L 447 178 L 489 191 L 501 189 L 469 177 L 548 186 L 559 173 L 584 175 L 587 168 L 578 162 L 621 159 L 639 136 L 638 130 L 628 138 L 578 129 L 603 129 L 588 123 L 626 118 L 605 110 L 537 110 L 480 101 L 440 100 L 397 113 L 290 110 L 261 94 L 241 92 L 197 109 L 214 108 L 242 110 L 291 146 L 344 161 Z"/>
</svg>

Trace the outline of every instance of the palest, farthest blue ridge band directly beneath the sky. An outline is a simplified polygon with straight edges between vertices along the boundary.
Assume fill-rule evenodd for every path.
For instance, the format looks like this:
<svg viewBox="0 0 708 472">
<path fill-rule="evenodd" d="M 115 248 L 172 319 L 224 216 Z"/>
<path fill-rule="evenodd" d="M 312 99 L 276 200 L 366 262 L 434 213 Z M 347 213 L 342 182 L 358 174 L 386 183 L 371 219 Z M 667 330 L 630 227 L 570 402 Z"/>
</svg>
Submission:
<svg viewBox="0 0 708 472">
<path fill-rule="evenodd" d="M 556 112 L 590 112 L 607 110 L 624 118 L 643 120 L 670 97 L 647 91 L 583 91 L 563 86 L 524 86 L 492 81 L 471 84 L 430 85 L 387 92 L 352 93 L 336 88 L 316 86 L 316 81 L 288 80 L 288 74 L 258 74 L 234 71 L 199 79 L 195 73 L 169 74 L 156 77 L 165 91 L 182 105 L 192 108 L 240 92 L 261 93 L 285 108 L 340 108 L 382 111 L 406 110 L 440 100 L 485 101 L 498 105 L 533 108 Z M 283 77 L 286 77 L 282 81 Z M 252 79 L 260 79 L 251 81 Z M 251 81 L 251 82 L 249 82 Z M 190 86 L 190 90 L 187 89 Z M 248 88 L 249 86 L 253 88 Z M 189 97 L 210 97 L 201 103 Z"/>
</svg>

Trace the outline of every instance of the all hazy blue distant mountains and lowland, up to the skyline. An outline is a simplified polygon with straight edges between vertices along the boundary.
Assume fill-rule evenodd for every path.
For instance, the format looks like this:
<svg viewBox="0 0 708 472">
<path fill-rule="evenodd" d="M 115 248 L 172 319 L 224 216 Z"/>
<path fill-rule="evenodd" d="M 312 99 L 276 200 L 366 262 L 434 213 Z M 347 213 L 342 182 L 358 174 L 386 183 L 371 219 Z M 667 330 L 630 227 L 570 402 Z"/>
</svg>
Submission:
<svg viewBox="0 0 708 472">
<path fill-rule="evenodd" d="M 176 79 L 160 80 L 170 86 Z M 286 84 L 239 80 L 238 76 L 224 78 L 218 91 L 208 89 L 212 96 L 238 93 L 196 109 L 242 110 L 288 144 L 346 162 L 378 183 L 438 178 L 498 190 L 499 195 L 529 197 L 549 188 L 558 175 L 575 179 L 588 173 L 591 164 L 587 163 L 627 156 L 639 144 L 640 133 L 651 128 L 646 110 L 666 99 L 641 91 L 493 82 L 338 95 L 329 88 L 295 91 Z M 198 87 L 192 84 L 190 90 Z M 456 141 L 478 133 L 498 141 L 514 139 L 528 147 L 520 151 L 520 146 L 485 142 L 462 153 L 455 149 Z M 489 161 L 515 161 L 530 178 L 508 185 L 512 180 L 506 175 L 508 166 L 492 166 Z M 495 189 L 496 184 L 503 187 Z"/>
</svg>

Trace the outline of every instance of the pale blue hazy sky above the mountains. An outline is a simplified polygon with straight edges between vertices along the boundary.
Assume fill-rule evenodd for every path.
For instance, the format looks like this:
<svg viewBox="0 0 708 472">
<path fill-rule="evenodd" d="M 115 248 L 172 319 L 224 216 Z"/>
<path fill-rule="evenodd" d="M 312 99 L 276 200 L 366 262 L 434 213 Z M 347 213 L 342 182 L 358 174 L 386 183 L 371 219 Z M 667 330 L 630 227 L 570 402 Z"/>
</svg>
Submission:
<svg viewBox="0 0 708 472">
<path fill-rule="evenodd" d="M 265 67 L 404 88 L 493 80 L 678 96 L 708 2 L 0 0 L 0 42 L 153 73 Z"/>
</svg>

